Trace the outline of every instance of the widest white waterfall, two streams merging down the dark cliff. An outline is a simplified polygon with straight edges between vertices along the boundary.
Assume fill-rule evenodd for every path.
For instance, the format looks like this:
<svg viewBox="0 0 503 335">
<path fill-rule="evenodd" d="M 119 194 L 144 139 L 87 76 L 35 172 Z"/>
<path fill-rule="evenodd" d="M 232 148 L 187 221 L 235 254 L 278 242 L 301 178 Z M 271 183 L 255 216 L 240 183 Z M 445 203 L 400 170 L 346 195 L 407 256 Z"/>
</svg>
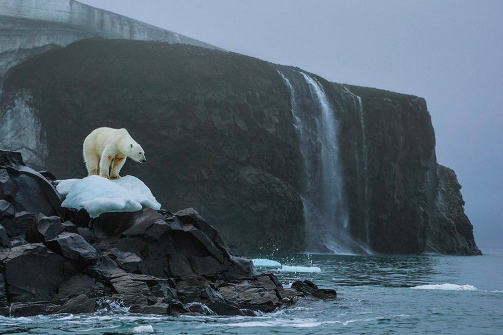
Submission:
<svg viewBox="0 0 503 335">
<path fill-rule="evenodd" d="M 317 79 L 290 71 L 290 79 L 287 73 L 278 73 L 290 91 L 294 127 L 304 160 L 302 202 L 307 251 L 367 253 L 349 233 L 336 113 Z"/>
</svg>

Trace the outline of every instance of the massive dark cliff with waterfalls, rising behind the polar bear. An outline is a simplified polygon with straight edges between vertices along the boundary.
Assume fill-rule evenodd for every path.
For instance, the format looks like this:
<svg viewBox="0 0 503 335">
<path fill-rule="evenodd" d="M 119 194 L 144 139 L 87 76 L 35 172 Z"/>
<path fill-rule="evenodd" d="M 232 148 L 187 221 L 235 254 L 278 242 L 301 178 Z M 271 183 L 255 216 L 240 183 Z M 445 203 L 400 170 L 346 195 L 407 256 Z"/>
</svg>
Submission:
<svg viewBox="0 0 503 335">
<path fill-rule="evenodd" d="M 438 214 L 444 176 L 422 98 L 194 46 L 85 40 L 14 67 L 2 101 L 30 108 L 40 167 L 61 178 L 85 175 L 91 130 L 127 128 L 149 159 L 123 173 L 170 210 L 198 208 L 241 252 L 303 251 L 325 236 L 321 251 L 446 252 L 432 227 L 454 207 Z M 464 227 L 471 251 L 449 252 L 476 254 Z"/>
</svg>

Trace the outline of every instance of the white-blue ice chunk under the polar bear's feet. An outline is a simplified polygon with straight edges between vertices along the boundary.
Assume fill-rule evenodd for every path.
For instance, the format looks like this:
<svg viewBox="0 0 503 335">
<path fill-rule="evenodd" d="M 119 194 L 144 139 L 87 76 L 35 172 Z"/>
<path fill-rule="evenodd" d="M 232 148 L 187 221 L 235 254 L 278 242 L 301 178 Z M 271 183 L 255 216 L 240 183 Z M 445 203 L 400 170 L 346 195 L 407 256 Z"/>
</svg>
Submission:
<svg viewBox="0 0 503 335">
<path fill-rule="evenodd" d="M 56 189 L 66 196 L 61 204 L 67 208 L 84 208 L 91 217 L 101 213 L 160 209 L 160 203 L 138 178 L 124 176 L 109 180 L 100 176 L 59 180 Z"/>
</svg>

